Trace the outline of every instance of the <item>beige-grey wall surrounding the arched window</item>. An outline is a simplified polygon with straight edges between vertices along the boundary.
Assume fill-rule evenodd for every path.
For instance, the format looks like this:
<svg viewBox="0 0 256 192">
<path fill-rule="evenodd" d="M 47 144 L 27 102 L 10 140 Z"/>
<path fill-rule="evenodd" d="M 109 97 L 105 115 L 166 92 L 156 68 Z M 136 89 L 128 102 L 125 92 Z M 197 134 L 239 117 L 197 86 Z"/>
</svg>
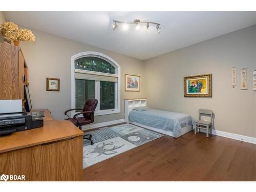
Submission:
<svg viewBox="0 0 256 192">
<path fill-rule="evenodd" d="M 25 28 L 25 27 L 24 27 Z M 20 42 L 29 67 L 29 89 L 34 109 L 49 109 L 55 119 L 64 119 L 71 108 L 71 56 L 84 51 L 97 51 L 112 57 L 121 66 L 121 113 L 96 116 L 95 123 L 123 119 L 125 98 L 144 98 L 142 61 L 106 51 L 77 41 L 31 29 L 34 42 Z M 140 92 L 124 91 L 124 74 L 141 76 Z M 60 91 L 46 91 L 46 78 L 60 78 Z"/>
</svg>

